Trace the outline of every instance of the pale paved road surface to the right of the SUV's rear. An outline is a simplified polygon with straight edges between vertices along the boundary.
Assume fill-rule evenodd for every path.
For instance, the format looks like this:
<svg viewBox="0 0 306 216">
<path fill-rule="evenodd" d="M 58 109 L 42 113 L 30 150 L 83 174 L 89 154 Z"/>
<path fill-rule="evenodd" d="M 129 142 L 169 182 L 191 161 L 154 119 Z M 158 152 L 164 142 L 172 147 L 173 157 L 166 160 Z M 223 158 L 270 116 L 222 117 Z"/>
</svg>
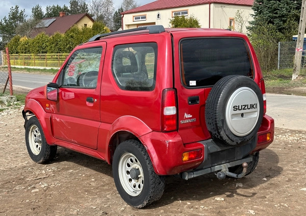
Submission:
<svg viewBox="0 0 306 216">
<path fill-rule="evenodd" d="M 275 127 L 306 130 L 306 97 L 267 94 L 267 114 L 275 120 Z"/>
</svg>

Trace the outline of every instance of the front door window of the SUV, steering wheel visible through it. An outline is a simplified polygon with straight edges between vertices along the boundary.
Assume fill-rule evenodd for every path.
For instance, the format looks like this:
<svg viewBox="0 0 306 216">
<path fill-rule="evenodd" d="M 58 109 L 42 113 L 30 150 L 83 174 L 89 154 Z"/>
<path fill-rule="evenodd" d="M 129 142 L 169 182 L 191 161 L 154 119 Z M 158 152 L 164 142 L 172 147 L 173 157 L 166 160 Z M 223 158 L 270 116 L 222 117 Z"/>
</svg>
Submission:
<svg viewBox="0 0 306 216">
<path fill-rule="evenodd" d="M 102 47 L 75 51 L 63 71 L 64 87 L 95 88 L 101 60 Z"/>
</svg>

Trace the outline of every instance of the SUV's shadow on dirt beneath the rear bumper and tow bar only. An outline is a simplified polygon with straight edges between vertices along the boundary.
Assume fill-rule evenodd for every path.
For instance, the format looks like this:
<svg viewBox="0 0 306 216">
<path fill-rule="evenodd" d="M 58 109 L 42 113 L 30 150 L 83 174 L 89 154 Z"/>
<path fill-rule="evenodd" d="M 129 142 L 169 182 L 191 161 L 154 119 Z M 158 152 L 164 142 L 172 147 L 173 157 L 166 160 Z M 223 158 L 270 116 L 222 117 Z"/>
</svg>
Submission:
<svg viewBox="0 0 306 216">
<path fill-rule="evenodd" d="M 225 195 L 228 199 L 237 196 L 252 198 L 257 193 L 243 191 L 243 189 L 257 187 L 279 176 L 283 167 L 278 166 L 278 162 L 277 154 L 270 149 L 266 149 L 260 152 L 256 170 L 241 179 L 225 178 L 224 180 L 218 180 L 213 173 L 187 181 L 169 176 L 166 179 L 166 187 L 161 200 L 148 206 L 147 209 L 158 208 L 177 201 L 203 201 L 221 195 Z M 243 186 L 237 186 L 237 183 L 242 183 Z"/>
</svg>

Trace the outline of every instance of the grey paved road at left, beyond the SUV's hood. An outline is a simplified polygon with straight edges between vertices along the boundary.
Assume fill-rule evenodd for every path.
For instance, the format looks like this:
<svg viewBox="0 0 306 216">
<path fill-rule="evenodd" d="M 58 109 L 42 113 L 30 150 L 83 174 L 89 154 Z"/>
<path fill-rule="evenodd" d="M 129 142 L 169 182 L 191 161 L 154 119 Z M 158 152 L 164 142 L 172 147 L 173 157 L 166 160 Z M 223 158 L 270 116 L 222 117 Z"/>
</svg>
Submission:
<svg viewBox="0 0 306 216">
<path fill-rule="evenodd" d="M 13 87 L 33 89 L 39 86 L 46 85 L 53 80 L 55 75 L 37 75 L 12 73 Z"/>
</svg>

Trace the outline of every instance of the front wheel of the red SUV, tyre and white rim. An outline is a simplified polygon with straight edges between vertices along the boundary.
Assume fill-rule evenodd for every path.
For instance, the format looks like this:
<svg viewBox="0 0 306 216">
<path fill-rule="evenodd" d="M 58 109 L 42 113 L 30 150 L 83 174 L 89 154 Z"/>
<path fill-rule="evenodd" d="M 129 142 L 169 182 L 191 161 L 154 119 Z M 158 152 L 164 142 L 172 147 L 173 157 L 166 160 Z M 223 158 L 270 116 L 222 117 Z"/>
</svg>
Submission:
<svg viewBox="0 0 306 216">
<path fill-rule="evenodd" d="M 33 116 L 25 125 L 25 145 L 28 153 L 36 163 L 46 163 L 54 159 L 57 146 L 47 144 L 38 119 Z"/>
</svg>

